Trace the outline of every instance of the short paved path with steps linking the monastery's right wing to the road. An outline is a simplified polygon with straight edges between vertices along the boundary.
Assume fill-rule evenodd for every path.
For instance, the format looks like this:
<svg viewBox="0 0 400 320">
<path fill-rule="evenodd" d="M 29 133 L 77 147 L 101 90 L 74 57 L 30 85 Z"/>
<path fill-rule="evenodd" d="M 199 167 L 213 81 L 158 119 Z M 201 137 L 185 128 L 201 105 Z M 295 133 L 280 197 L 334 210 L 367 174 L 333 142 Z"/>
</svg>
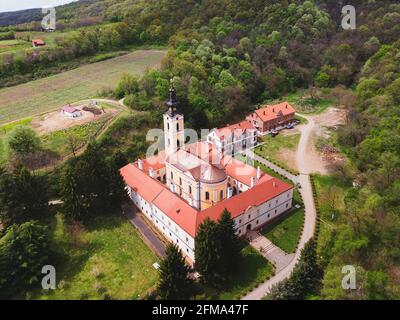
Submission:
<svg viewBox="0 0 400 320">
<path fill-rule="evenodd" d="M 250 231 L 246 237 L 250 245 L 275 266 L 276 272 L 284 269 L 294 257 L 294 253 L 287 254 L 258 231 Z"/>
</svg>

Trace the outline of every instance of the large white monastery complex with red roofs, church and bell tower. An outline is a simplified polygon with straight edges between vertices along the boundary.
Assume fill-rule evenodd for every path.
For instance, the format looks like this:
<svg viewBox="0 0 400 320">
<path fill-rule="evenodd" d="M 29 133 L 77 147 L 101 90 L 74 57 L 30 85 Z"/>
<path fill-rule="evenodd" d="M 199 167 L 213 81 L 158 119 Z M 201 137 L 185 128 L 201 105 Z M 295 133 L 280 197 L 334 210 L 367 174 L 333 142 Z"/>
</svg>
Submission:
<svg viewBox="0 0 400 320">
<path fill-rule="evenodd" d="M 185 145 L 183 115 L 176 105 L 170 89 L 169 110 L 164 114 L 168 148 L 120 172 L 138 210 L 194 262 L 196 232 L 204 219 L 217 220 L 227 209 L 236 233 L 245 235 L 292 207 L 293 186 L 223 155 L 207 141 Z M 252 128 L 245 121 L 229 126 L 228 135 L 237 127 Z M 215 134 L 225 136 L 218 130 Z"/>
</svg>

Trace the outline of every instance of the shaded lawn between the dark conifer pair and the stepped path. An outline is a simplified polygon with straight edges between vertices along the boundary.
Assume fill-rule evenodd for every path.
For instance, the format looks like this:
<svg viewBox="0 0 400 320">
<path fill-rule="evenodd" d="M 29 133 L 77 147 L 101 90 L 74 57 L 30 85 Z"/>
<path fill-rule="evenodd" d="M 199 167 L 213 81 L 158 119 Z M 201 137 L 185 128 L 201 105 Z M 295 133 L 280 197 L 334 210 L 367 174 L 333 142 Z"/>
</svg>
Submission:
<svg viewBox="0 0 400 320">
<path fill-rule="evenodd" d="M 234 283 L 227 290 L 218 292 L 216 298 L 220 300 L 239 299 L 273 274 L 272 264 L 255 249 L 246 245 L 242 249 L 242 259 Z"/>
</svg>

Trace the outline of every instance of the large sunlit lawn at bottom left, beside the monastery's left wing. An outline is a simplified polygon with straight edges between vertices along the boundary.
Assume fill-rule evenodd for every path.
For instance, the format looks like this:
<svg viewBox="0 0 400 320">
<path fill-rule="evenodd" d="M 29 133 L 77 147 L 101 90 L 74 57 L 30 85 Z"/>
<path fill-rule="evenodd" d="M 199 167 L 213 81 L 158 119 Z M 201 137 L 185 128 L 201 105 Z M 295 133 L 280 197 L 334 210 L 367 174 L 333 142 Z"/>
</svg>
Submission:
<svg viewBox="0 0 400 320">
<path fill-rule="evenodd" d="M 54 247 L 64 256 L 56 264 L 57 289 L 39 291 L 33 299 L 137 299 L 156 285 L 159 259 L 122 215 L 103 215 L 85 228 L 53 221 Z"/>
</svg>

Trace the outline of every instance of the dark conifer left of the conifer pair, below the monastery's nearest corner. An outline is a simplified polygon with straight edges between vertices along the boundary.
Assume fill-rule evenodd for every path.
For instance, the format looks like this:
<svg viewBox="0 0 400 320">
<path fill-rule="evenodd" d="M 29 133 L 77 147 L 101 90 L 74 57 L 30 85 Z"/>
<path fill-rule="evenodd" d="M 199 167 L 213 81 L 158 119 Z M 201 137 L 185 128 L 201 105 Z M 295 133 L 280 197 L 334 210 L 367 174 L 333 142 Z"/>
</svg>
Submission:
<svg viewBox="0 0 400 320">
<path fill-rule="evenodd" d="M 193 295 L 193 281 L 188 278 L 189 267 L 181 251 L 169 244 L 160 265 L 160 279 L 157 292 L 161 299 L 187 300 Z"/>
</svg>

